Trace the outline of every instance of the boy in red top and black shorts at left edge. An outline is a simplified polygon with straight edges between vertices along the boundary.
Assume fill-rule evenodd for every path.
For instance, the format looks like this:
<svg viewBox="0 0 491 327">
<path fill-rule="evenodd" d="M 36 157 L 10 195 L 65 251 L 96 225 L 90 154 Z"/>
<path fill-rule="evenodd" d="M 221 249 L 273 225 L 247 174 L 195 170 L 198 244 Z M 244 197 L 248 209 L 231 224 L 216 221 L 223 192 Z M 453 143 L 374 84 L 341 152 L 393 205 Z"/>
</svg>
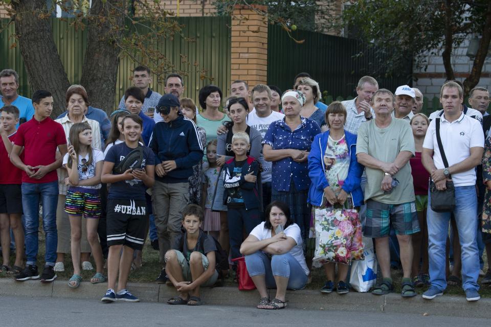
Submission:
<svg viewBox="0 0 491 327">
<path fill-rule="evenodd" d="M 4 106 L 0 109 L 0 239 L 2 239 L 2 267 L 0 271 L 18 274 L 22 270 L 24 254 L 24 229 L 22 228 L 22 197 L 20 183 L 22 171 L 12 165 L 9 156 L 17 133 L 19 109 Z M 16 244 L 15 263 L 9 267 L 10 228 Z"/>
</svg>

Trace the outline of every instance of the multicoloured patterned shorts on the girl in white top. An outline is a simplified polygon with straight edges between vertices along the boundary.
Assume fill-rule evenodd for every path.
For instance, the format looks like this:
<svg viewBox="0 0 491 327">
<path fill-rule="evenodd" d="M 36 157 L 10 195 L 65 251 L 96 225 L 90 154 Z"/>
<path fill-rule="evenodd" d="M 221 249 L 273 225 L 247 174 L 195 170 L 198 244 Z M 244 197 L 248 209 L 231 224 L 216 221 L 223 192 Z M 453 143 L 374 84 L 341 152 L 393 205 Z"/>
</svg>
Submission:
<svg viewBox="0 0 491 327">
<path fill-rule="evenodd" d="M 99 190 L 70 188 L 66 191 L 65 212 L 71 216 L 100 218 L 101 196 Z"/>
</svg>

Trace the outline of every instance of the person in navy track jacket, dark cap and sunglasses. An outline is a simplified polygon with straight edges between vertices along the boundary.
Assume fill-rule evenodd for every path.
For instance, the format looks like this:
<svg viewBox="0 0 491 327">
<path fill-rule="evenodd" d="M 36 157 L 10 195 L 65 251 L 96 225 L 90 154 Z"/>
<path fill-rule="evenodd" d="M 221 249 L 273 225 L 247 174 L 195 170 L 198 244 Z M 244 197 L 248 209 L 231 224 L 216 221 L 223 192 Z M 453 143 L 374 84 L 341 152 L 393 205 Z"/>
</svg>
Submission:
<svg viewBox="0 0 491 327">
<path fill-rule="evenodd" d="M 155 227 L 159 237 L 162 271 L 156 282 L 168 281 L 165 272 L 165 253 L 181 234 L 184 207 L 188 204 L 189 182 L 193 166 L 203 158 L 203 145 L 193 121 L 181 113 L 179 99 L 166 94 L 155 111 L 162 121 L 155 124 L 149 147 L 155 153 L 155 184 L 152 188 Z"/>
</svg>

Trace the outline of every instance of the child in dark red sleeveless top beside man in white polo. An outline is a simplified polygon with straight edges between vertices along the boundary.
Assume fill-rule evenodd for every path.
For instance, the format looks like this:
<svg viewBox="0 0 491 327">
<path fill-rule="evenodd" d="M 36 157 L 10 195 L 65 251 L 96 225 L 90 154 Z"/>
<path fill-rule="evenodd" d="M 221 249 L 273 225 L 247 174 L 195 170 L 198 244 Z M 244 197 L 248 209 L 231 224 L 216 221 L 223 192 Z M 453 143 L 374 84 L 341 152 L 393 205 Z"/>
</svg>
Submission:
<svg viewBox="0 0 491 327">
<path fill-rule="evenodd" d="M 428 184 L 430 174 L 423 167 L 421 162 L 421 152 L 426 131 L 430 122 L 423 113 L 416 113 L 411 119 L 411 128 L 414 136 L 415 156 L 409 159 L 411 174 L 413 175 L 414 194 L 416 195 L 416 211 L 421 231 L 413 234 L 412 242 L 414 249 L 414 259 L 412 266 L 413 283 L 415 287 L 430 285 L 430 275 L 428 274 L 428 226 L 426 224 L 426 209 L 428 208 Z M 421 270 L 419 270 L 419 259 L 423 258 Z"/>
</svg>

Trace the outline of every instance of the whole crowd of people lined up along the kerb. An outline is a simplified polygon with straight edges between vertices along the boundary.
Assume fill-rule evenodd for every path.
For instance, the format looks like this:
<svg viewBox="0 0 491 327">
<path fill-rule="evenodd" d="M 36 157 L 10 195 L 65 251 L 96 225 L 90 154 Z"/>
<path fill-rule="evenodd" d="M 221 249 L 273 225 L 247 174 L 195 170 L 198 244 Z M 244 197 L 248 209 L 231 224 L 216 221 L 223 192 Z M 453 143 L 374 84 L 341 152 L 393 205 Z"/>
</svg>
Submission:
<svg viewBox="0 0 491 327">
<path fill-rule="evenodd" d="M 487 273 L 482 260 L 491 251 L 486 88 L 471 90 L 467 107 L 462 85 L 447 81 L 442 109 L 428 117 L 418 89 L 393 94 L 369 76 L 353 100 L 329 105 L 307 73 L 284 92 L 236 80 L 226 99 L 207 85 L 200 109 L 178 74 L 164 95 L 149 87 L 146 66 L 133 84 L 109 116 L 72 85 L 52 120 L 50 91 L 27 99 L 17 73 L 0 72 L 0 269 L 16 281 L 52 282 L 70 254 L 69 287 L 95 270 L 90 282 L 108 286 L 102 302 L 139 301 L 127 281 L 149 239 L 162 267 L 155 282 L 178 293 L 171 305 L 200 305 L 200 288 L 241 259 L 259 309 L 285 308 L 286 290 L 304 288 L 314 266 L 325 270 L 322 293 L 345 294 L 365 242 L 382 274 L 375 295 L 393 292 L 399 266 L 403 297 L 427 287 L 422 297 L 433 299 L 461 284 L 475 301 L 479 275 L 491 283 L 489 254 Z M 455 205 L 434 210 L 432 194 L 447 189 Z"/>
</svg>

